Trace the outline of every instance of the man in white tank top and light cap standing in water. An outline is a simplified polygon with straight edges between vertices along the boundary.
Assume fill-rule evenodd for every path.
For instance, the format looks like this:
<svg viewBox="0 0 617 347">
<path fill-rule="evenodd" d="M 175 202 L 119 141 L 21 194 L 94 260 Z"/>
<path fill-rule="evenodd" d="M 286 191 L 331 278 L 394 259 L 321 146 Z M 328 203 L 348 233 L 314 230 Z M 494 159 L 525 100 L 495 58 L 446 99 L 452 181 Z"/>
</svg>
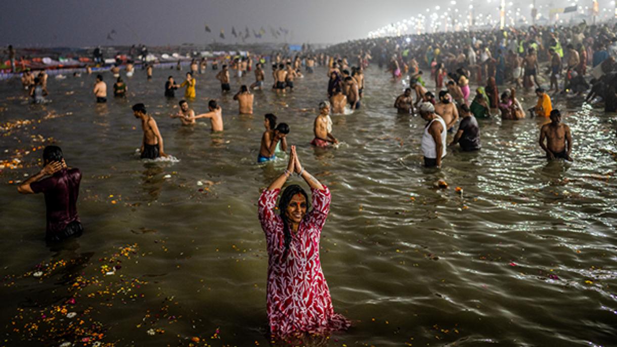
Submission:
<svg viewBox="0 0 617 347">
<path fill-rule="evenodd" d="M 424 155 L 424 166 L 441 167 L 441 159 L 445 157 L 445 138 L 447 130 L 444 120 L 435 113 L 431 102 L 421 102 L 420 116 L 428 123 L 422 134 L 421 150 Z"/>
</svg>

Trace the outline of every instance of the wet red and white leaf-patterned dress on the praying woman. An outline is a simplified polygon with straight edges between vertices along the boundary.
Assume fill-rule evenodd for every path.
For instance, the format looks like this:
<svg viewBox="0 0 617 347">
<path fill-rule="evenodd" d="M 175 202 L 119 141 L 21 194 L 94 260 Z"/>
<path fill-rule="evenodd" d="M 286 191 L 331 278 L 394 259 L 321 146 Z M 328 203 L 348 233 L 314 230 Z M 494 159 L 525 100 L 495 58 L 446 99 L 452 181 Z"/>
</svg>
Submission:
<svg viewBox="0 0 617 347">
<path fill-rule="evenodd" d="M 330 210 L 330 191 L 312 189 L 313 209 L 305 214 L 298 231 L 291 233 L 284 261 L 283 220 L 273 212 L 279 189 L 265 190 L 259 198 L 259 221 L 268 248 L 267 311 L 275 337 L 298 333 L 327 334 L 344 330 L 350 322 L 334 313 L 328 283 L 321 270 L 319 239 Z"/>
</svg>

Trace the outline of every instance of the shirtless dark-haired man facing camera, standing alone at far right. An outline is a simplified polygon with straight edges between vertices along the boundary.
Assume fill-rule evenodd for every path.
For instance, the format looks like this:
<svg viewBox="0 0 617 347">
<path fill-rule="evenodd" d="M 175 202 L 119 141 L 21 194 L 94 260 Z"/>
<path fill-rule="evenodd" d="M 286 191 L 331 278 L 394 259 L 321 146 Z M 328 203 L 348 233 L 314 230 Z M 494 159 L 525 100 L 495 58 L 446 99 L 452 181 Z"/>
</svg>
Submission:
<svg viewBox="0 0 617 347">
<path fill-rule="evenodd" d="M 546 139 L 546 144 L 544 144 L 544 139 Z M 540 130 L 540 147 L 546 152 L 546 157 L 549 161 L 558 158 L 572 161 L 570 156 L 572 152 L 570 127 L 561 123 L 561 112 L 557 109 L 550 111 L 550 123 L 542 125 Z"/>
</svg>

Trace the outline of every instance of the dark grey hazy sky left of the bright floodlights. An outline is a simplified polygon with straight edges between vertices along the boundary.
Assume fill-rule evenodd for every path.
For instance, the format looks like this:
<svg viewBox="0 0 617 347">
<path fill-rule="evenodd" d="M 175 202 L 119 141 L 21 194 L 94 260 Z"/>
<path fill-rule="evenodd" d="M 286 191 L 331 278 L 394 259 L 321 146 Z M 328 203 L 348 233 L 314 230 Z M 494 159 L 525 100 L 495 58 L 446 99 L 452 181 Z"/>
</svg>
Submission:
<svg viewBox="0 0 617 347">
<path fill-rule="evenodd" d="M 486 0 L 482 0 L 486 1 Z M 433 7 L 448 0 L 429 2 Z M 0 44 L 92 46 L 96 44 L 211 43 L 231 27 L 290 30 L 292 43 L 335 43 L 364 38 L 370 30 L 404 19 L 426 6 L 418 0 L 22 0 L 2 1 Z M 206 33 L 204 25 L 212 33 Z M 115 30 L 114 41 L 107 33 Z M 254 38 L 248 40 L 255 41 Z M 280 41 L 283 41 L 281 38 Z"/>
</svg>

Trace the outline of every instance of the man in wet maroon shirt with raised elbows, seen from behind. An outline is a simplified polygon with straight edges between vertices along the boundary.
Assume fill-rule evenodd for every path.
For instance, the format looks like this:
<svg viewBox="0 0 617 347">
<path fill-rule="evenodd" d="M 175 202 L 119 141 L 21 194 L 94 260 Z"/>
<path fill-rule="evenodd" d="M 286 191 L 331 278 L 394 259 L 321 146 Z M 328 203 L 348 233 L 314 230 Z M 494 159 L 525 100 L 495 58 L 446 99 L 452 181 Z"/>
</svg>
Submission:
<svg viewBox="0 0 617 347">
<path fill-rule="evenodd" d="M 77 196 L 81 182 L 80 169 L 67 167 L 58 146 L 43 149 L 43 170 L 23 182 L 17 191 L 22 194 L 45 194 L 47 207 L 46 240 L 61 241 L 83 232 L 77 215 Z M 44 178 L 45 176 L 49 176 Z"/>
</svg>

